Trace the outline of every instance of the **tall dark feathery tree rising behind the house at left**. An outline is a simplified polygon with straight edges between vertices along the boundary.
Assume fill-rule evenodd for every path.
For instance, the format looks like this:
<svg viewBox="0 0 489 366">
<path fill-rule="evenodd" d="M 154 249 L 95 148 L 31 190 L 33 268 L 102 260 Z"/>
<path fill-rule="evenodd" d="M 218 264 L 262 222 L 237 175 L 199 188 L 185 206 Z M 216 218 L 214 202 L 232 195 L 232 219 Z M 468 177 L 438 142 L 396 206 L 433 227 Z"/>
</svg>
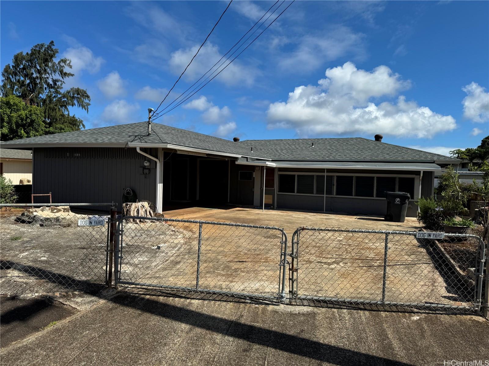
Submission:
<svg viewBox="0 0 489 366">
<path fill-rule="evenodd" d="M 12 65 L 6 65 L 1 73 L 2 97 L 16 96 L 43 109 L 44 134 L 84 128 L 83 121 L 70 115 L 69 108 L 76 106 L 88 112 L 90 105 L 87 90 L 64 89 L 65 80 L 74 75 L 67 71 L 71 68 L 70 60 L 55 61 L 58 52 L 54 41 L 36 44 L 30 52 L 14 55 Z"/>
</svg>

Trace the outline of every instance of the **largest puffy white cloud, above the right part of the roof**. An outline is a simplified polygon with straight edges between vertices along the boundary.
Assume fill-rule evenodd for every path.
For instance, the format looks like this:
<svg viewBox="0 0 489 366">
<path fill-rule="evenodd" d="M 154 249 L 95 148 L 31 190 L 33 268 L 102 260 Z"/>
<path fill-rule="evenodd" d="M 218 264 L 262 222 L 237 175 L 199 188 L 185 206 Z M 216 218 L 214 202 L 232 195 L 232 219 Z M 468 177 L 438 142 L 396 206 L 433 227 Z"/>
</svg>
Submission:
<svg viewBox="0 0 489 366">
<path fill-rule="evenodd" d="M 456 127 L 453 117 L 407 102 L 404 96 L 394 103 L 371 102 L 409 87 L 409 81 L 400 80 L 387 66 L 367 72 L 347 62 L 326 70 L 326 77 L 318 86 L 296 87 L 287 102 L 271 103 L 268 128 L 294 128 L 300 136 L 380 133 L 430 138 Z"/>
</svg>

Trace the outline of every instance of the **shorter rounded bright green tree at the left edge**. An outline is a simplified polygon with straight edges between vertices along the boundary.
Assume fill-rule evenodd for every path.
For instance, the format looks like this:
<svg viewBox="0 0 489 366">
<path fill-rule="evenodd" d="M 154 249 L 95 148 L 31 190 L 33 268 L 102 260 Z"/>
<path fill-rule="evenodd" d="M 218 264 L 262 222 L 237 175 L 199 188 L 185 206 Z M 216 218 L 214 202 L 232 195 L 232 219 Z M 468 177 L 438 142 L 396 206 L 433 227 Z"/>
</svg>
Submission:
<svg viewBox="0 0 489 366">
<path fill-rule="evenodd" d="M 0 98 L 1 141 L 44 135 L 44 112 L 35 105 L 27 105 L 13 95 Z"/>
</svg>

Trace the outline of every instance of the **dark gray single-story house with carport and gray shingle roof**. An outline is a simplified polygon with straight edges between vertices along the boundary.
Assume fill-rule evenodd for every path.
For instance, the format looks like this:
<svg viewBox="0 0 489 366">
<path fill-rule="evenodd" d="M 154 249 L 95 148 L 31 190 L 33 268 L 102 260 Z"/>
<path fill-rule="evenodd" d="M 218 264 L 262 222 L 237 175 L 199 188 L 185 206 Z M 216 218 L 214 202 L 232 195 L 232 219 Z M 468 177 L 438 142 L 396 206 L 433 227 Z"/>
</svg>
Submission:
<svg viewBox="0 0 489 366">
<path fill-rule="evenodd" d="M 132 188 L 157 211 L 179 203 L 384 215 L 385 191 L 433 195 L 434 175 L 459 163 L 364 138 L 223 140 L 131 123 L 3 143 L 33 150 L 33 193 L 53 202 L 117 202 Z M 265 181 L 265 182 L 264 182 Z M 265 188 L 264 188 L 265 187 Z M 265 190 L 265 192 L 264 192 Z"/>
</svg>

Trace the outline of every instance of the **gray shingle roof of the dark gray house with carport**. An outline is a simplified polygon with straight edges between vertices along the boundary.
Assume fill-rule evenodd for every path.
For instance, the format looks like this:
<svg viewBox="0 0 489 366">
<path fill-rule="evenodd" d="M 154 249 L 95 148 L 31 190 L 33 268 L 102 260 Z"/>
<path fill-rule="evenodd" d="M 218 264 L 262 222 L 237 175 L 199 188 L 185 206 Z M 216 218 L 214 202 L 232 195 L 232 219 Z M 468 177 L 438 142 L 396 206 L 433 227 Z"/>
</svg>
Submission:
<svg viewBox="0 0 489 366">
<path fill-rule="evenodd" d="M 458 160 L 408 147 L 364 138 L 246 140 L 233 142 L 176 127 L 152 123 L 130 123 L 88 130 L 2 142 L 2 147 L 33 147 L 63 144 L 106 144 L 124 146 L 128 142 L 168 143 L 202 150 L 272 160 L 303 161 L 405 161 L 434 162 Z M 312 142 L 314 147 L 311 147 Z M 253 152 L 251 152 L 251 147 Z"/>
</svg>

